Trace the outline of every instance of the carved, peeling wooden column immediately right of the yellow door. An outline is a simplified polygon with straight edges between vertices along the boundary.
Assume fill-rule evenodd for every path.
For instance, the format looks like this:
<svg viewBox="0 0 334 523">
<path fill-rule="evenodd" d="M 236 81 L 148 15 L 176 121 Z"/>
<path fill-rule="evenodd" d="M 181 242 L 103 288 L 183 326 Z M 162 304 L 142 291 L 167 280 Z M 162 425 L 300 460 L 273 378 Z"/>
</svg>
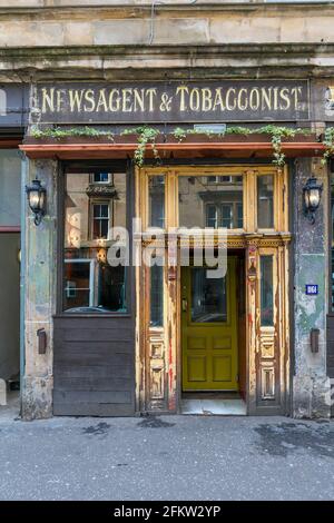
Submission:
<svg viewBox="0 0 334 523">
<path fill-rule="evenodd" d="M 247 235 L 248 413 L 283 414 L 288 408 L 289 237 Z M 261 257 L 272 258 L 273 324 L 261 319 Z"/>
</svg>

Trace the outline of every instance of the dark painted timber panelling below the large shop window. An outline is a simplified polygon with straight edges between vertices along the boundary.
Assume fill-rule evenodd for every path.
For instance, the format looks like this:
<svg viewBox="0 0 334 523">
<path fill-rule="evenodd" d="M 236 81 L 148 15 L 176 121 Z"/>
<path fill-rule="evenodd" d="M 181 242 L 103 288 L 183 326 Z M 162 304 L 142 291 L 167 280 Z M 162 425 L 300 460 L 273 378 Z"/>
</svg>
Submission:
<svg viewBox="0 0 334 523">
<path fill-rule="evenodd" d="M 131 318 L 55 318 L 53 414 L 135 413 Z"/>
</svg>

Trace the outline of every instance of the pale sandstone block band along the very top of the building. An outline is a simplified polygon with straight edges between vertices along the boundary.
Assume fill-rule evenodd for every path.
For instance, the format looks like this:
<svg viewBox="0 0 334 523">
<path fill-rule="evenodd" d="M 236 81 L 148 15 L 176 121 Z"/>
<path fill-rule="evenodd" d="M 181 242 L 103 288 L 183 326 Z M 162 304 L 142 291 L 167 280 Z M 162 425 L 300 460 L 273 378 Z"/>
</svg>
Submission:
<svg viewBox="0 0 334 523">
<path fill-rule="evenodd" d="M 163 2 L 154 16 L 147 1 L 24 3 L 0 9 L 0 48 L 333 42 L 326 3 Z"/>
</svg>

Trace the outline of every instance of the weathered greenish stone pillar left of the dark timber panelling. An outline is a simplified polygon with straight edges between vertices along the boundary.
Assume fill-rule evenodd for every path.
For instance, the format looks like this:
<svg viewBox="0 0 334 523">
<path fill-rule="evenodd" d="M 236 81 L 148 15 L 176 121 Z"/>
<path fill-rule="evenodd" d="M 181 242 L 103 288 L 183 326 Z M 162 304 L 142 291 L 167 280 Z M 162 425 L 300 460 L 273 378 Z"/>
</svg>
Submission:
<svg viewBox="0 0 334 523">
<path fill-rule="evenodd" d="M 57 277 L 57 162 L 29 160 L 29 184 L 38 177 L 47 189 L 47 214 L 37 227 L 27 209 L 26 229 L 26 303 L 24 345 L 26 369 L 22 384 L 22 417 L 26 420 L 52 415 L 52 315 L 56 313 Z M 28 207 L 28 206 L 27 206 Z M 47 333 L 47 352 L 38 353 L 37 330 Z"/>
</svg>

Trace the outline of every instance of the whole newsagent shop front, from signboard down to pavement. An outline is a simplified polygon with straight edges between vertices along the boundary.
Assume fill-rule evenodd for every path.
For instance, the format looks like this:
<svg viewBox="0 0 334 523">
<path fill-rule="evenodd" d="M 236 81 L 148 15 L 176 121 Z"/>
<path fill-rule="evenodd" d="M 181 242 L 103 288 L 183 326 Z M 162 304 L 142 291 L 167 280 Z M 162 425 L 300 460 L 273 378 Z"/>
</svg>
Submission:
<svg viewBox="0 0 334 523">
<path fill-rule="evenodd" d="M 26 181 L 47 207 L 38 226 L 27 208 L 23 415 L 297 415 L 295 260 L 318 233 L 297 208 L 304 178 L 327 176 L 308 82 L 43 83 L 32 99 Z"/>
</svg>

